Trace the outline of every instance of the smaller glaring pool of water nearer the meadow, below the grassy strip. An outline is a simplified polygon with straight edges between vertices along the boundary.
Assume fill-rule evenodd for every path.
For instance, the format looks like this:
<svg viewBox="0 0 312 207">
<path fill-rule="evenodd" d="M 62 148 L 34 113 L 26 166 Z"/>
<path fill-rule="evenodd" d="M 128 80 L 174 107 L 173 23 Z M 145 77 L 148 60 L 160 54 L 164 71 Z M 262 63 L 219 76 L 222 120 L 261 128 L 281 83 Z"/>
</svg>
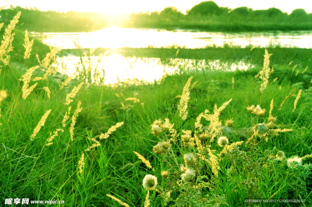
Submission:
<svg viewBox="0 0 312 207">
<path fill-rule="evenodd" d="M 79 77 L 79 73 L 91 70 L 92 82 L 114 84 L 120 82 L 153 82 L 167 74 L 183 73 L 187 70 L 247 70 L 254 65 L 240 60 L 237 63 L 227 63 L 220 60 L 192 60 L 182 58 L 138 58 L 121 55 L 82 57 L 84 67 L 79 63 L 80 57 L 66 56 L 56 58 L 58 71 L 69 76 Z M 90 66 L 89 66 L 90 64 Z M 79 72 L 80 71 L 80 72 Z M 105 79 L 103 78 L 105 76 Z"/>
</svg>

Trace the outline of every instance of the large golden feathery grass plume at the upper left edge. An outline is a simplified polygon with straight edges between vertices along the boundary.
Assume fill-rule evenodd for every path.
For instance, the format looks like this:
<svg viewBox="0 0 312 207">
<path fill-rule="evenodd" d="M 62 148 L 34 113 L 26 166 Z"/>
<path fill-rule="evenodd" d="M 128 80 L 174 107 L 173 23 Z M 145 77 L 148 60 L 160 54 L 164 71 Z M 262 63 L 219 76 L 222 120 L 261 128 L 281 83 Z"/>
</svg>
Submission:
<svg viewBox="0 0 312 207">
<path fill-rule="evenodd" d="M 4 65 L 7 65 L 10 61 L 10 55 L 8 55 L 8 52 L 13 51 L 12 41 L 15 35 L 15 33 L 12 33 L 12 30 L 15 28 L 15 25 L 17 24 L 21 13 L 22 12 L 17 12 L 17 14 L 11 20 L 10 24 L 4 30 L 4 35 L 0 46 L 0 60 L 2 60 Z M 4 60 L 2 59 L 3 55 L 6 55 L 6 58 Z"/>
</svg>

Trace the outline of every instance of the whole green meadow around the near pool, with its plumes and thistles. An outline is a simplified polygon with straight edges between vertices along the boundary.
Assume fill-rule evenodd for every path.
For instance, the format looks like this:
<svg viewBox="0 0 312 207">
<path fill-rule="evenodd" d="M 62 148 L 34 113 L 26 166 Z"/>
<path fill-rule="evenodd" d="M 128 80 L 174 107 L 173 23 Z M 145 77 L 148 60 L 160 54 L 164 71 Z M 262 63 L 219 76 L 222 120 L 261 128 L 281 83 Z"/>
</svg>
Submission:
<svg viewBox="0 0 312 207">
<path fill-rule="evenodd" d="M 88 68 L 85 76 L 74 79 L 58 73 L 51 64 L 60 48 L 50 51 L 34 41 L 29 58 L 24 59 L 28 37 L 24 41 L 24 33 L 17 33 L 17 38 L 7 38 L 12 37 L 9 30 L 4 35 L 0 46 L 1 202 L 29 198 L 65 200 L 64 206 L 253 206 L 244 200 L 261 198 L 305 203 L 260 206 L 311 206 L 311 49 L 211 47 L 202 49 L 211 59 L 231 62 L 248 55 L 255 67 L 183 70 L 153 83 L 104 85 L 86 80 Z M 14 48 L 8 52 L 11 40 Z M 202 54 L 201 49 L 179 48 L 178 53 L 177 49 L 120 50 L 143 57 L 163 55 L 164 62 L 176 54 L 179 58 Z M 265 49 L 273 55 L 266 54 L 264 61 Z M 266 89 L 263 78 L 259 79 L 263 75 L 267 75 Z M 181 108 L 185 103 L 187 108 Z M 267 122 L 269 114 L 277 120 Z M 155 122 L 160 118 L 175 123 L 176 135 L 172 125 Z M 258 129 L 261 123 L 268 126 L 264 135 Z M 157 132 L 160 127 L 164 129 Z M 291 131 L 278 131 L 284 128 Z M 199 140 L 205 130 L 212 134 Z M 164 133 L 175 138 L 167 149 L 163 148 Z M 187 153 L 194 160 L 185 159 Z M 180 165 L 187 169 L 183 172 Z M 158 179 L 149 191 L 142 185 L 148 174 Z"/>
</svg>

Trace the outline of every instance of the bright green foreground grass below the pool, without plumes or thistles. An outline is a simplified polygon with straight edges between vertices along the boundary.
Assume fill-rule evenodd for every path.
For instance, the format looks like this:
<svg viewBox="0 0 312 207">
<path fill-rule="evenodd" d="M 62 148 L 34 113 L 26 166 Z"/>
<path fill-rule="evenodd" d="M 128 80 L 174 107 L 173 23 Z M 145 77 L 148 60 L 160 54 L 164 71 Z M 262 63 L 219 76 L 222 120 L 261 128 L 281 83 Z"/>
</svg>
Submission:
<svg viewBox="0 0 312 207">
<path fill-rule="evenodd" d="M 255 79 L 254 75 L 261 70 L 261 63 L 256 65 L 256 68 L 244 72 L 187 71 L 182 75 L 171 75 L 161 81 L 139 86 L 126 84 L 121 84 L 118 87 L 83 86 L 74 102 L 70 104 L 72 106 L 71 116 L 78 100 L 82 102 L 83 108 L 77 118 L 74 141 L 70 141 L 69 125 L 71 120 L 69 120 L 64 132 L 55 138 L 52 145 L 45 147 L 43 146 L 49 134 L 61 126 L 63 115 L 67 110 L 64 105 L 66 93 L 69 93 L 72 87 L 79 83 L 73 79 L 69 86 L 59 90 L 57 79 L 51 77 L 46 81 L 39 81 L 35 90 L 26 100 L 23 100 L 20 95 L 22 83 L 19 83 L 17 79 L 25 70 L 21 64 L 10 63 L 11 69 L 1 74 L 2 77 L 5 76 L 4 85 L 1 81 L 1 88 L 4 87 L 8 93 L 7 99 L 1 104 L 1 123 L 3 123 L 0 137 L 1 197 L 49 200 L 57 195 L 58 199 L 65 200 L 65 206 L 74 206 L 75 204 L 76 206 L 119 206 L 106 196 L 106 194 L 111 194 L 130 206 L 142 206 L 146 196 L 142 180 L 146 174 L 157 176 L 159 185 L 164 187 L 160 171 L 165 168 L 165 165 L 160 157 L 151 154 L 152 147 L 158 141 L 151 134 L 150 125 L 155 119 L 168 117 L 179 129 L 177 113 L 179 98 L 175 97 L 181 95 L 189 76 L 194 75 L 193 82 L 196 80 L 198 82 L 190 90 L 191 99 L 188 106 L 190 118 L 185 121 L 183 128 L 194 129 L 194 121 L 199 113 L 205 109 L 211 111 L 214 104 L 220 106 L 231 98 L 232 102 L 221 114 L 222 123 L 227 118 L 234 118 L 235 128 L 248 128 L 251 123 L 246 106 L 260 102 L 261 82 L 259 79 Z M 304 82 L 304 84 L 297 84 L 303 89 L 309 87 L 308 79 L 311 79 L 311 75 L 307 73 L 307 80 L 301 81 L 299 77 L 303 79 L 306 74 L 299 74 L 298 79 L 294 80 L 293 77 L 290 78 L 291 68 L 287 64 L 281 65 L 272 73 L 268 88 L 261 98 L 261 106 L 267 111 L 270 108 L 271 99 L 274 98 L 273 113 L 277 112 L 280 103 L 293 89 L 293 82 Z M 275 74 L 283 75 L 278 75 L 278 81 L 273 82 Z M 232 89 L 232 77 L 235 80 L 234 89 Z M 50 88 L 51 99 L 47 98 L 46 92 L 42 89 L 44 86 Z M 119 97 L 115 94 L 118 94 Z M 298 94 L 298 89 L 294 94 Z M 136 97 L 140 99 L 140 103 L 125 101 L 128 97 Z M 291 96 L 278 113 L 278 125 L 292 128 L 294 132 L 282 133 L 278 137 L 270 138 L 259 148 L 260 154 L 263 154 L 266 149 L 272 150 L 273 147 L 284 151 L 286 157 L 312 153 L 312 107 L 308 108 L 306 105 L 310 101 L 309 95 L 303 95 L 299 99 L 297 109 L 292 113 L 294 100 L 295 96 Z M 133 105 L 133 107 L 123 110 L 120 102 L 125 105 Z M 144 107 L 141 103 L 144 103 Z M 38 132 L 34 141 L 30 141 L 33 129 L 48 109 L 52 111 L 45 126 Z M 75 172 L 78 160 L 84 149 L 92 145 L 87 137 L 93 138 L 100 135 L 100 133 L 106 132 L 110 126 L 122 121 L 124 121 L 122 127 L 107 140 L 103 140 L 100 147 L 89 152 L 83 175 L 79 180 Z M 240 140 L 241 137 L 231 137 L 233 142 Z M 244 146 L 245 144 L 241 148 L 247 150 Z M 216 142 L 213 142 L 212 149 L 219 150 Z M 137 162 L 139 159 L 133 151 L 139 152 L 149 159 L 156 173 L 148 169 L 142 162 Z M 181 160 L 181 157 L 178 159 Z M 308 159 L 305 162 L 310 163 L 310 161 L 311 159 Z M 135 164 L 127 166 L 128 163 Z M 275 164 L 275 161 L 272 162 L 267 166 L 270 171 L 261 173 L 264 176 L 263 180 L 259 179 L 261 195 L 264 198 L 269 198 L 276 193 L 276 198 L 291 199 L 294 192 L 285 184 L 287 184 L 287 179 L 294 179 L 294 177 L 287 177 L 288 167 L 280 165 L 280 163 L 275 166 L 272 173 Z M 225 194 L 230 206 L 244 206 L 243 199 L 247 198 L 246 189 L 235 188 L 236 184 L 223 174 L 229 165 L 228 160 L 223 160 L 221 163 L 221 179 L 217 181 L 216 193 Z M 246 179 L 246 174 L 243 174 L 240 163 L 237 163 L 237 168 L 239 174 L 236 179 Z M 206 168 L 204 173 L 213 179 L 209 168 Z M 305 184 L 307 192 L 310 193 L 312 190 L 311 179 L 308 178 Z M 205 188 L 203 193 L 211 195 L 212 192 Z M 54 199 L 56 198 L 54 197 Z M 157 197 L 155 192 L 151 192 L 150 200 L 151 206 L 163 206 L 162 199 Z M 261 205 L 284 206 L 283 204 Z M 309 205 L 306 203 L 306 206 Z"/>
</svg>

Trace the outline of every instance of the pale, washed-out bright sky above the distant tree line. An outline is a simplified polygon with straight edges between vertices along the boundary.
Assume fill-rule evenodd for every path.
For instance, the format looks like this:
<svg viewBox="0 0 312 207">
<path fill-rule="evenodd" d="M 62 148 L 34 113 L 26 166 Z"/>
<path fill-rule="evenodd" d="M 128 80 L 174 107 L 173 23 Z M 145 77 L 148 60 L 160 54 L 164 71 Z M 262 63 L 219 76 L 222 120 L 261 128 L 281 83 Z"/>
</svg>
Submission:
<svg viewBox="0 0 312 207">
<path fill-rule="evenodd" d="M 162 11 L 165 7 L 177 7 L 185 13 L 195 4 L 203 0 L 0 0 L 0 5 L 13 5 L 20 7 L 37 7 L 41 11 L 76 11 L 76 12 L 108 12 L 108 13 L 138 13 Z M 303 8 L 308 13 L 312 12 L 312 0 L 215 0 L 222 7 L 236 8 L 246 6 L 256 9 L 276 7 L 283 12 L 291 13 L 296 8 Z"/>
</svg>

